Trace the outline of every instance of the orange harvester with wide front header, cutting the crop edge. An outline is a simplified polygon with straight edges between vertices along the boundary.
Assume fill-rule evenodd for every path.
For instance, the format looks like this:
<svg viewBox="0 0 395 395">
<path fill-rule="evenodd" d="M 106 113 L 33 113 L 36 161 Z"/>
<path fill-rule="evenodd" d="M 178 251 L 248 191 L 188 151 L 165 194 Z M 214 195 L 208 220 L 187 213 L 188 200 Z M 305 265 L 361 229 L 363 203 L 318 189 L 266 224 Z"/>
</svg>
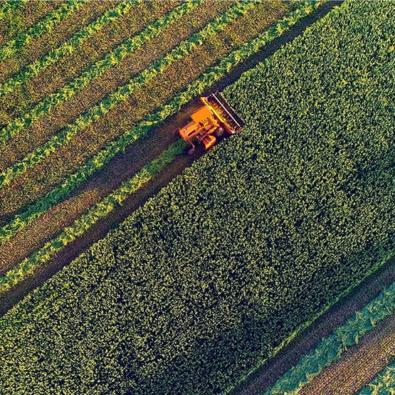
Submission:
<svg viewBox="0 0 395 395">
<path fill-rule="evenodd" d="M 181 137 L 191 144 L 189 154 L 195 151 L 196 142 L 209 149 L 219 137 L 236 135 L 244 125 L 221 93 L 211 93 L 207 97 L 201 97 L 200 101 L 202 106 L 191 115 L 191 121 L 179 128 Z"/>
</svg>

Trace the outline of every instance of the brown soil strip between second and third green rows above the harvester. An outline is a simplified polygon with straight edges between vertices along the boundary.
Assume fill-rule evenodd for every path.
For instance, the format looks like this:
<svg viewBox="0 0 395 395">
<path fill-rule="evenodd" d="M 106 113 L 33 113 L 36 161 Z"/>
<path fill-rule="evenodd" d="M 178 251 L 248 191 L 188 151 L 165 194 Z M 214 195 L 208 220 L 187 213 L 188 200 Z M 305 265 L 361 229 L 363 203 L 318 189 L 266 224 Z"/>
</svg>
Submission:
<svg viewBox="0 0 395 395">
<path fill-rule="evenodd" d="M 159 60 L 161 56 L 179 46 L 181 41 L 186 40 L 192 33 L 199 31 L 207 23 L 221 15 L 232 5 L 231 1 L 204 1 L 197 8 L 193 7 L 181 20 L 174 20 L 167 28 L 151 40 L 143 43 L 142 48 L 127 56 L 114 67 L 107 70 L 100 78 L 94 79 L 83 90 L 57 106 L 50 114 L 33 122 L 26 130 L 19 132 L 16 138 L 9 140 L 8 144 L 0 147 L 0 169 L 11 166 L 16 160 L 23 158 L 40 144 L 45 143 L 55 132 L 58 132 L 73 122 L 78 115 L 90 110 L 97 105 L 106 95 L 115 92 L 120 85 L 141 73 L 144 68 Z M 184 8 L 183 8 L 184 9 Z M 122 44 L 121 44 L 121 47 Z M 122 51 L 123 53 L 123 51 Z M 114 53 L 109 54 L 115 58 Z M 122 78 L 117 75 L 122 74 Z"/>
</svg>

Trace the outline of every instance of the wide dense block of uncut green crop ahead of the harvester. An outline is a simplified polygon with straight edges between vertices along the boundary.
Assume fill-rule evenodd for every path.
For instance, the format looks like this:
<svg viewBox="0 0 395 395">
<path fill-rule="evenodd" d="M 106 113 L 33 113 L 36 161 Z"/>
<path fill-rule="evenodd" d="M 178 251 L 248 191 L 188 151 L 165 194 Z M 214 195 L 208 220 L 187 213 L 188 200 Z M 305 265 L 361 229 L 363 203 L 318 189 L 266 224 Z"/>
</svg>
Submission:
<svg viewBox="0 0 395 395">
<path fill-rule="evenodd" d="M 224 92 L 243 132 L 1 318 L 6 393 L 230 389 L 393 255 L 383 5 L 345 2 L 245 73 Z"/>
</svg>

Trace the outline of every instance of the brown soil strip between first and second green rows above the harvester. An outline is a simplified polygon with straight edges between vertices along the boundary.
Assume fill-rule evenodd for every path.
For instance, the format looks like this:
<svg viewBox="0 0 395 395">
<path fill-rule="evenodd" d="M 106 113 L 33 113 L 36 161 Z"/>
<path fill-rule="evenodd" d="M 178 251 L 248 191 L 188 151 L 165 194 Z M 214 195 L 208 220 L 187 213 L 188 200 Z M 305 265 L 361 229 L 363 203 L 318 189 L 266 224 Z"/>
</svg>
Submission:
<svg viewBox="0 0 395 395">
<path fill-rule="evenodd" d="M 260 23 L 256 23 L 256 29 L 251 27 L 248 33 L 246 32 L 246 39 L 256 36 L 259 31 L 268 26 L 263 21 L 271 24 L 275 19 L 278 19 L 278 13 L 276 12 L 270 12 L 268 18 L 266 4 L 260 4 L 257 7 L 260 9 L 260 14 L 257 13 L 255 19 Z M 218 13 L 218 6 L 214 9 L 206 9 L 206 14 L 211 14 L 211 18 L 216 13 Z M 241 20 L 248 20 L 248 16 L 246 18 L 242 17 Z M 181 90 L 191 80 L 196 79 L 218 58 L 231 52 L 232 48 L 236 46 L 233 43 L 234 37 L 239 38 L 238 31 L 243 31 L 242 26 L 239 26 L 238 23 L 234 25 L 232 23 L 223 34 L 219 33 L 213 40 L 208 40 L 203 45 L 197 46 L 189 55 L 184 56 L 182 62 L 166 68 L 149 83 L 137 89 L 129 100 L 119 103 L 114 109 L 100 117 L 93 125 L 86 127 L 82 132 L 75 135 L 70 142 L 53 152 L 40 164 L 31 167 L 16 177 L 9 187 L 0 191 L 2 203 L 0 210 L 2 213 L 9 214 L 13 210 L 19 209 L 21 204 L 26 204 L 28 201 L 45 194 L 67 174 L 78 169 L 98 149 L 130 130 L 149 112 L 167 102 L 173 95 L 177 94 L 178 90 Z M 186 33 L 186 35 L 189 35 L 189 33 Z M 225 33 L 228 34 L 225 35 Z M 228 44 L 224 42 L 226 38 L 228 38 Z M 160 46 L 160 43 L 155 45 L 155 47 L 157 46 Z M 113 80 L 115 83 L 124 82 L 118 80 L 118 78 Z M 85 96 L 89 98 L 89 95 Z M 38 133 L 42 130 L 43 127 L 37 128 Z M 29 139 L 24 140 L 26 142 L 31 141 Z"/>
</svg>

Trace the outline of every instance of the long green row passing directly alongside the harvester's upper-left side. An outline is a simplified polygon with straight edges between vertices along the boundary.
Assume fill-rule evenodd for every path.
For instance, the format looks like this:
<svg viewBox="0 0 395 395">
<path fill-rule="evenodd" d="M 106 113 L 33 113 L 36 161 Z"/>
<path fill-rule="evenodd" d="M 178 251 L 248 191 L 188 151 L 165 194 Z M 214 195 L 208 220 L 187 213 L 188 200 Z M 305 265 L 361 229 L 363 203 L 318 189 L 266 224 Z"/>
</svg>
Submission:
<svg viewBox="0 0 395 395">
<path fill-rule="evenodd" d="M 304 16 L 311 14 L 312 11 L 315 11 L 315 9 L 320 5 L 321 3 L 318 2 L 310 4 L 310 2 L 307 1 L 300 4 L 295 11 L 274 23 L 267 31 L 260 34 L 249 43 L 243 44 L 229 56 L 223 58 L 217 65 L 209 68 L 206 73 L 203 73 L 194 82 L 187 85 L 179 95 L 172 98 L 172 100 L 167 102 L 167 104 L 162 106 L 157 112 L 149 115 L 144 121 L 140 122 L 139 125 L 133 127 L 119 139 L 101 149 L 98 154 L 88 160 L 88 162 L 86 162 L 78 172 L 71 174 L 55 189 L 48 192 L 46 196 L 38 199 L 34 204 L 29 206 L 26 211 L 15 216 L 9 223 L 0 228 L 0 243 L 4 243 L 9 240 L 18 231 L 28 226 L 29 223 L 33 222 L 44 211 L 50 209 L 51 206 L 58 203 L 61 199 L 64 199 L 70 191 L 73 191 L 86 179 L 95 174 L 95 172 L 98 172 L 102 166 L 110 162 L 112 157 L 115 157 L 116 154 L 124 151 L 128 145 L 133 144 L 137 139 L 146 136 L 150 130 L 161 125 L 168 117 L 177 113 L 183 105 L 195 98 L 197 95 L 203 93 L 204 90 L 216 83 L 224 75 L 228 74 L 236 67 L 236 65 L 243 62 L 253 54 L 258 53 L 258 51 L 270 43 L 270 41 L 273 41 L 284 31 L 287 31 Z"/>
</svg>

